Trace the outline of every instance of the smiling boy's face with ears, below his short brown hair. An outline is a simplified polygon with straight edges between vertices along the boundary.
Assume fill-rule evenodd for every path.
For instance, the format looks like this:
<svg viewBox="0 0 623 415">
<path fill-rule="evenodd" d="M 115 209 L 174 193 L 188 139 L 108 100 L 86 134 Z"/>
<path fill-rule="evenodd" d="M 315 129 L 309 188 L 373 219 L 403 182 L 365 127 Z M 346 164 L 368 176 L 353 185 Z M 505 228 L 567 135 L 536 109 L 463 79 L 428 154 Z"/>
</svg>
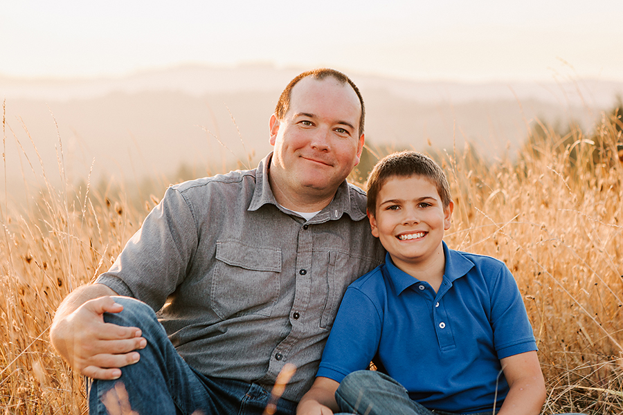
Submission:
<svg viewBox="0 0 623 415">
<path fill-rule="evenodd" d="M 425 266 L 443 260 L 442 239 L 450 228 L 453 202 L 444 208 L 431 180 L 390 177 L 381 186 L 375 215 L 368 212 L 372 234 L 381 240 L 398 267 Z"/>
</svg>

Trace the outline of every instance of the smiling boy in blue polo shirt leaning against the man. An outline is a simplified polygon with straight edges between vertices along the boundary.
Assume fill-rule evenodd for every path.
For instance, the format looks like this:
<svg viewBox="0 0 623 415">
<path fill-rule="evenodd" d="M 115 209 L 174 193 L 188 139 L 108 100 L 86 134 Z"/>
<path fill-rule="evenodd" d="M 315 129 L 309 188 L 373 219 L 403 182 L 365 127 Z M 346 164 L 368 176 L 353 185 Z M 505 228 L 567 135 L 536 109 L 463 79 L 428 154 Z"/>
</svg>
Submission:
<svg viewBox="0 0 623 415">
<path fill-rule="evenodd" d="M 297 414 L 539 414 L 523 299 L 503 262 L 442 241 L 454 208 L 442 169 L 415 151 L 383 158 L 367 208 L 386 264 L 347 289 Z M 361 370 L 371 360 L 379 371 Z"/>
</svg>

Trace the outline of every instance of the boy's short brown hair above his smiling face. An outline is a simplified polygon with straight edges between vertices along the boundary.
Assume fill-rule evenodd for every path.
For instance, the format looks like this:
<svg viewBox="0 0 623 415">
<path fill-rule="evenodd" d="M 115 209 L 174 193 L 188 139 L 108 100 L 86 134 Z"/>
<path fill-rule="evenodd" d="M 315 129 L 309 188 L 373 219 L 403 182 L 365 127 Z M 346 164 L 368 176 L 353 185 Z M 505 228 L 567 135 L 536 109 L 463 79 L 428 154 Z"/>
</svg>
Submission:
<svg viewBox="0 0 623 415">
<path fill-rule="evenodd" d="M 450 185 L 442 168 L 435 161 L 417 151 L 400 151 L 385 156 L 374 166 L 366 182 L 368 192 L 368 212 L 376 215 L 377 198 L 381 187 L 391 177 L 422 176 L 428 178 L 435 187 L 442 200 L 444 209 L 451 201 Z"/>
</svg>

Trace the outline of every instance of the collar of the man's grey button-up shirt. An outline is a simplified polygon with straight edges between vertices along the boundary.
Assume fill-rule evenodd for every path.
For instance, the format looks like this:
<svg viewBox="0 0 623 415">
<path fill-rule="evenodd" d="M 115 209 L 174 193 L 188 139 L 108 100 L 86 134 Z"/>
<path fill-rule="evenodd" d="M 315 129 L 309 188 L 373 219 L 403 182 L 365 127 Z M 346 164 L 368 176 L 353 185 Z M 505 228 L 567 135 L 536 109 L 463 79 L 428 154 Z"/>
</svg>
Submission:
<svg viewBox="0 0 623 415">
<path fill-rule="evenodd" d="M 253 190 L 253 199 L 251 199 L 251 204 L 249 204 L 249 211 L 258 210 L 266 204 L 276 205 L 280 210 L 283 210 L 275 199 L 268 178 L 272 156 L 273 152 L 271 151 L 268 156 L 260 160 L 258 168 L 255 170 L 255 190 Z M 343 214 L 348 214 L 353 221 L 361 221 L 361 219 L 365 218 L 365 203 L 358 204 L 353 200 L 351 192 L 356 191 L 351 190 L 350 185 L 343 181 L 339 185 L 331 203 L 314 216 L 310 222 L 320 223 L 331 219 L 340 219 Z"/>
</svg>

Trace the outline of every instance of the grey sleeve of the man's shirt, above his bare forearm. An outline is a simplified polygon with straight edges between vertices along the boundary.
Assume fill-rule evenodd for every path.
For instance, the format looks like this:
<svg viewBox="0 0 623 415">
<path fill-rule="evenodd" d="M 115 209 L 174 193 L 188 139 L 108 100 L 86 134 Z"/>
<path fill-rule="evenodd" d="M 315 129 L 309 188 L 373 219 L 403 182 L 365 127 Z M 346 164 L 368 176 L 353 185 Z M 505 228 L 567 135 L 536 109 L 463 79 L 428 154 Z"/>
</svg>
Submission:
<svg viewBox="0 0 623 415">
<path fill-rule="evenodd" d="M 181 284 L 197 250 L 197 225 L 188 203 L 169 187 L 114 264 L 96 279 L 154 311 Z"/>
</svg>

